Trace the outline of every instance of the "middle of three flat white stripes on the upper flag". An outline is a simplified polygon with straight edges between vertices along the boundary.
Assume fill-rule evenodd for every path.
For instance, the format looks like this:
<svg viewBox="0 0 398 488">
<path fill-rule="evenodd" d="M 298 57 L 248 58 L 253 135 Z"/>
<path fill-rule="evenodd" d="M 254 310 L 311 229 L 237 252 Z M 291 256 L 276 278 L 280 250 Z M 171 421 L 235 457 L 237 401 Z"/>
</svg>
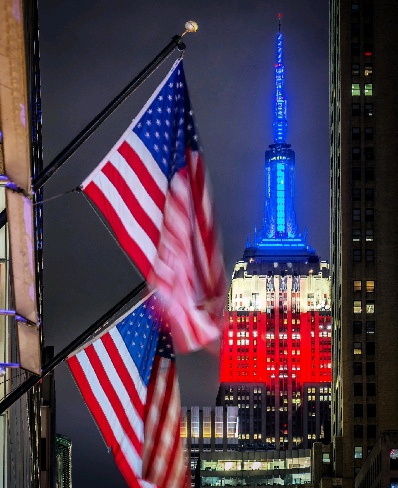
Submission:
<svg viewBox="0 0 398 488">
<path fill-rule="evenodd" d="M 131 190 L 131 193 L 138 200 L 138 203 L 144 209 L 148 218 L 160 230 L 163 222 L 163 212 L 148 195 L 147 190 L 131 169 L 125 158 L 116 151 L 109 158 L 109 161 L 119 171 L 121 177 L 125 180 L 127 186 Z"/>
</svg>

